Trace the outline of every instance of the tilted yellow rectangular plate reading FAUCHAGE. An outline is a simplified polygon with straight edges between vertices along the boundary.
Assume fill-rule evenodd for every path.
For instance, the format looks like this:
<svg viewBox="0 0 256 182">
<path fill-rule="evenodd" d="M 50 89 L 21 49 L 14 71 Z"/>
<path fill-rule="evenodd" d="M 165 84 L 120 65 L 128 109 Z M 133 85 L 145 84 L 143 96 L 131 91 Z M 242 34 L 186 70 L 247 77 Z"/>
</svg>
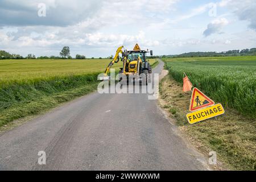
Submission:
<svg viewBox="0 0 256 182">
<path fill-rule="evenodd" d="M 197 110 L 193 113 L 187 114 L 188 122 L 193 124 L 196 122 L 204 121 L 205 119 L 216 117 L 217 115 L 224 114 L 225 110 L 221 104 L 206 107 L 201 110 Z"/>
</svg>

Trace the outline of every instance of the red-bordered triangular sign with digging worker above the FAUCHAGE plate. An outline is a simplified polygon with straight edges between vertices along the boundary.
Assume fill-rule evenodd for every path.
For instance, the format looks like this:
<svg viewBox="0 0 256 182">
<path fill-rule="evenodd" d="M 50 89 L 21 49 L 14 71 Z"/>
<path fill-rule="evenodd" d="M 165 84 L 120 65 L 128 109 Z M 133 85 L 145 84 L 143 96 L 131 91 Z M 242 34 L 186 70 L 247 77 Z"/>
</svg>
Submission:
<svg viewBox="0 0 256 182">
<path fill-rule="evenodd" d="M 214 105 L 213 100 L 205 96 L 199 89 L 193 88 L 189 110 L 195 111 L 210 105 Z"/>
</svg>

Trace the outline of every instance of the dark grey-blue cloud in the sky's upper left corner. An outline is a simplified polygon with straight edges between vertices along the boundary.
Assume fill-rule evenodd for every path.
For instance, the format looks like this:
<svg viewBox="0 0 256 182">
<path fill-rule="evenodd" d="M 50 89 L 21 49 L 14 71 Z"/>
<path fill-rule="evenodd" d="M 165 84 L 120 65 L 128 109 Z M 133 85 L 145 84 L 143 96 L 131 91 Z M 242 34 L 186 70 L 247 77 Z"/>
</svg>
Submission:
<svg viewBox="0 0 256 182">
<path fill-rule="evenodd" d="M 1 0 L 0 26 L 68 26 L 91 17 L 103 0 Z M 39 3 L 46 4 L 46 16 L 39 17 Z"/>
</svg>

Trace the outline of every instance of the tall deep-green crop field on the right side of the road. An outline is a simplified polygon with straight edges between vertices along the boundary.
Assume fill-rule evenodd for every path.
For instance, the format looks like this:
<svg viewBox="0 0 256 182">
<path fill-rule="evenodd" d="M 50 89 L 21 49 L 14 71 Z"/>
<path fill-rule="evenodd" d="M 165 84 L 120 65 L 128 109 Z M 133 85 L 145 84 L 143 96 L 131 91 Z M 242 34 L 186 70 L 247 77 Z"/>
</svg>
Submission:
<svg viewBox="0 0 256 182">
<path fill-rule="evenodd" d="M 256 56 L 164 59 L 175 80 L 185 72 L 215 102 L 256 118 Z"/>
</svg>

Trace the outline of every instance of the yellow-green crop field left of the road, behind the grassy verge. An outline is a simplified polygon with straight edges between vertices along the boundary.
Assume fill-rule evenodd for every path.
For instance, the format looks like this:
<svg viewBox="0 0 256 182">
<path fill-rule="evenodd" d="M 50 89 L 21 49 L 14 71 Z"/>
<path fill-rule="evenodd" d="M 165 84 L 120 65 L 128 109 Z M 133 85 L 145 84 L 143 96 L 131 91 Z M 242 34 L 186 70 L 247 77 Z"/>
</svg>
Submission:
<svg viewBox="0 0 256 182">
<path fill-rule="evenodd" d="M 0 82 L 103 72 L 110 60 L 1 60 Z M 119 68 L 121 63 L 113 65 Z"/>
</svg>

